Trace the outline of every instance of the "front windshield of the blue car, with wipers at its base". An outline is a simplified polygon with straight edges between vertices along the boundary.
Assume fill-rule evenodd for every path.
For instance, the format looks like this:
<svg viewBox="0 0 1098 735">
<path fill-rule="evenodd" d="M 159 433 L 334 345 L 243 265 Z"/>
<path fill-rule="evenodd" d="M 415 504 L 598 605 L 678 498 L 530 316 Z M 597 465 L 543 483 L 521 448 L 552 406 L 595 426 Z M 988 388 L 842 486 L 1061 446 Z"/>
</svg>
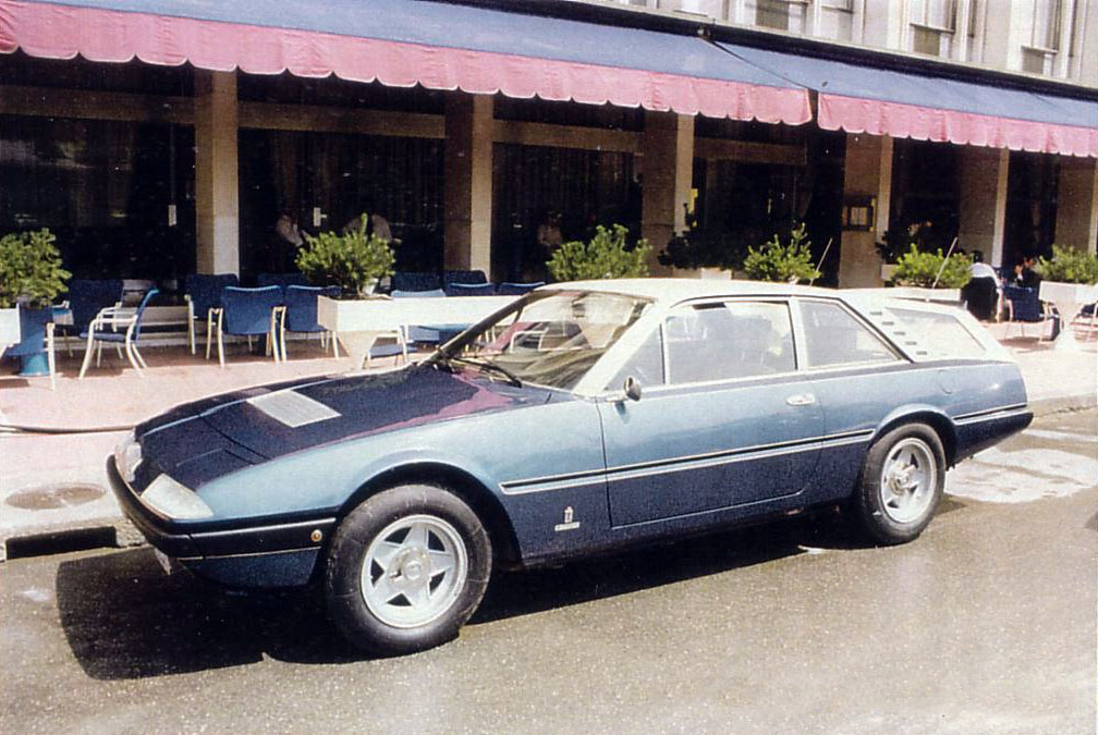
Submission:
<svg viewBox="0 0 1098 735">
<path fill-rule="evenodd" d="M 434 358 L 514 385 L 572 389 L 650 304 L 590 291 L 537 291 L 479 325 Z"/>
</svg>

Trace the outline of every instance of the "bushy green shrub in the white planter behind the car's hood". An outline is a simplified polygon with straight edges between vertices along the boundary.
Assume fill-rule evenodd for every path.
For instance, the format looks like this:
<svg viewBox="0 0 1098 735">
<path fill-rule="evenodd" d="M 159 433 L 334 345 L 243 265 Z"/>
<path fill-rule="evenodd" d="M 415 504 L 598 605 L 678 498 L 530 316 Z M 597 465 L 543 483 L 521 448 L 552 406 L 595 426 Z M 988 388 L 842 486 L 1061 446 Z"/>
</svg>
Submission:
<svg viewBox="0 0 1098 735">
<path fill-rule="evenodd" d="M 376 235 L 367 237 L 369 215 L 363 213 L 360 222 L 357 230 L 345 235 L 305 235 L 295 262 L 310 283 L 338 285 L 345 298 L 359 298 L 373 290 L 378 279 L 393 274 L 393 249 Z"/>
</svg>

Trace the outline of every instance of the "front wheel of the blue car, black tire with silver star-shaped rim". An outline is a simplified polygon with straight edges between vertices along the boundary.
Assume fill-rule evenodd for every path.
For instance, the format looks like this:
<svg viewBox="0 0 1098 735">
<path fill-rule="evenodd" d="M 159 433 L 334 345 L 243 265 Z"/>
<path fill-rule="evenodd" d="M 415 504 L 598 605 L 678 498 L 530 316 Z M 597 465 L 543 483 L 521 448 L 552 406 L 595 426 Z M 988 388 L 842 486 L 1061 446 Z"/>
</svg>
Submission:
<svg viewBox="0 0 1098 735">
<path fill-rule="evenodd" d="M 359 505 L 332 539 L 324 591 L 340 633 L 371 654 L 450 641 L 480 604 L 492 542 L 461 499 L 402 485 Z"/>
</svg>

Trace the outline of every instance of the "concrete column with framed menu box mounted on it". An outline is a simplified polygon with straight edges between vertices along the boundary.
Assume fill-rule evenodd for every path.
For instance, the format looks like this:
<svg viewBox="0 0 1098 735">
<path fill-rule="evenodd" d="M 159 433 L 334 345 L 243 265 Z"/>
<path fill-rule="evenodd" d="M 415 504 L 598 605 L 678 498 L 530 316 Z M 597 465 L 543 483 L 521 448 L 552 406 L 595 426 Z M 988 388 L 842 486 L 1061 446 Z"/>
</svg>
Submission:
<svg viewBox="0 0 1098 735">
<path fill-rule="evenodd" d="M 876 244 L 888 231 L 892 205 L 893 139 L 874 135 L 848 135 L 843 197 L 870 197 L 874 204 L 874 228 L 844 229 L 839 251 L 839 286 L 865 289 L 884 284 Z"/>
</svg>

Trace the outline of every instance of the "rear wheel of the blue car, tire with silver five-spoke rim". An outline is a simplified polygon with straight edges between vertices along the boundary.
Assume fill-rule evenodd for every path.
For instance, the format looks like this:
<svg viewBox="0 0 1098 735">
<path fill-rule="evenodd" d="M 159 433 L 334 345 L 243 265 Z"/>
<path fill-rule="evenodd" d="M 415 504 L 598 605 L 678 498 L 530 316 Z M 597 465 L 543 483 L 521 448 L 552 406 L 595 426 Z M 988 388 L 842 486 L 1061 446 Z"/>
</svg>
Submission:
<svg viewBox="0 0 1098 735">
<path fill-rule="evenodd" d="M 852 498 L 862 530 L 877 544 L 914 541 L 945 489 L 945 452 L 926 423 L 893 429 L 870 448 Z"/>
</svg>

